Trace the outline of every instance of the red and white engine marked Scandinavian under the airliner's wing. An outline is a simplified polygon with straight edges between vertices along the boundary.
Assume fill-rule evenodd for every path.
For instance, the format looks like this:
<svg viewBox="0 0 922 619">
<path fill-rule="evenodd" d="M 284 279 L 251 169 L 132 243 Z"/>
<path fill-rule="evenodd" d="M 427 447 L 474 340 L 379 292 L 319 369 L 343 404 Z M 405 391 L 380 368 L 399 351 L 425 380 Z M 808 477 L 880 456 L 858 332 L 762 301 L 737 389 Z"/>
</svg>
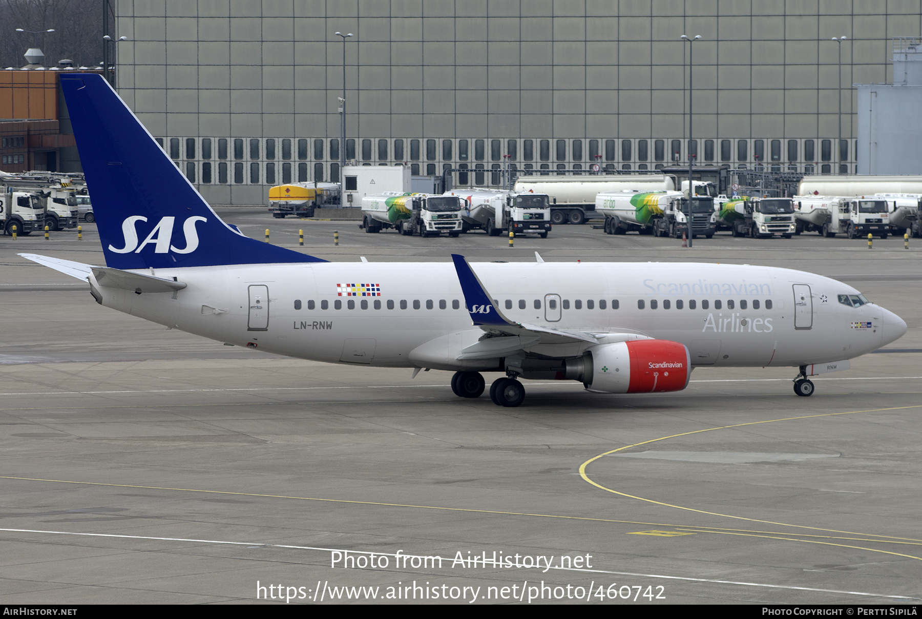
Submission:
<svg viewBox="0 0 922 619">
<path fill-rule="evenodd" d="M 582 359 L 568 360 L 567 378 L 597 393 L 681 391 L 691 377 L 685 345 L 668 339 L 637 339 L 591 346 Z"/>
</svg>

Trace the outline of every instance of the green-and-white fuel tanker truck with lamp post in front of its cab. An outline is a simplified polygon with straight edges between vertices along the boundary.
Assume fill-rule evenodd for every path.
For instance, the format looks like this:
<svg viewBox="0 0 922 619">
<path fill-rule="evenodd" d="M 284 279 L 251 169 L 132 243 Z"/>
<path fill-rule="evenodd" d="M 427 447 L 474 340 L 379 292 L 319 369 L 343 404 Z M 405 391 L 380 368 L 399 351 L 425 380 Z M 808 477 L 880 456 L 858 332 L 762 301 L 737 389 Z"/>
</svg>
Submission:
<svg viewBox="0 0 922 619">
<path fill-rule="evenodd" d="M 688 198 L 679 191 L 635 194 L 612 191 L 596 196 L 596 211 L 605 216 L 607 234 L 640 234 L 680 238 L 688 230 L 685 211 Z M 714 198 L 695 196 L 691 200 L 691 233 L 711 238 L 716 230 Z"/>
</svg>

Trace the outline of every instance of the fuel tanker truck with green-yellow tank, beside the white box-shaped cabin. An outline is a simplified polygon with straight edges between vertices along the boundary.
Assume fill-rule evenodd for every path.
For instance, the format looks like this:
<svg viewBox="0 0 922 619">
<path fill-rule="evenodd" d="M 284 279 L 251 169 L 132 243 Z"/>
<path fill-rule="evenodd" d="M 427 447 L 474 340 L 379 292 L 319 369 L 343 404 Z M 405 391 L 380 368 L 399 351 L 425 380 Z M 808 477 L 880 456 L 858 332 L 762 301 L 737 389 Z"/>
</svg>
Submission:
<svg viewBox="0 0 922 619">
<path fill-rule="evenodd" d="M 458 196 L 400 194 L 385 192 L 378 196 L 362 196 L 361 228 L 365 232 L 381 232 L 393 228 L 397 232 L 420 236 L 449 236 L 461 233 L 461 213 L 466 203 Z"/>
</svg>

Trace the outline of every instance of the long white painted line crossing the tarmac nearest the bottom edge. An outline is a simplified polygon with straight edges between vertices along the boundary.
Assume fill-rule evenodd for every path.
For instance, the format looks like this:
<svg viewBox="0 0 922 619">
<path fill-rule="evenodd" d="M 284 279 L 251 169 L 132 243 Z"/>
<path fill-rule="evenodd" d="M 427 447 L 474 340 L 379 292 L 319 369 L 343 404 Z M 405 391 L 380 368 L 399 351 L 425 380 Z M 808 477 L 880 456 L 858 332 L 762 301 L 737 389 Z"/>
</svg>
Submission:
<svg viewBox="0 0 922 619">
<path fill-rule="evenodd" d="M 0 531 L 8 531 L 14 533 L 47 533 L 52 535 L 77 535 L 77 536 L 86 536 L 86 537 L 108 537 L 108 538 L 120 538 L 125 540 L 152 540 L 157 542 L 195 542 L 195 543 L 215 543 L 215 544 L 227 544 L 234 546 L 259 546 L 263 548 L 287 548 L 290 550 L 317 550 L 325 553 L 338 552 L 351 554 L 381 554 L 386 556 L 397 556 L 393 553 L 372 553 L 369 551 L 356 551 L 342 548 L 319 548 L 315 546 L 293 546 L 289 544 L 278 544 L 278 543 L 261 543 L 261 542 L 226 542 L 222 540 L 195 540 L 189 538 L 175 538 L 175 537 L 148 537 L 143 535 L 116 535 L 113 533 L 77 533 L 74 531 L 64 531 L 64 530 L 32 530 L 32 529 L 0 529 Z M 414 556 L 403 554 L 402 556 Z M 905 596 L 905 595 L 890 595 L 886 593 L 868 593 L 865 591 L 843 591 L 838 589 L 815 589 L 812 587 L 792 587 L 790 585 L 769 585 L 761 582 L 745 582 L 739 580 L 717 580 L 713 578 L 692 578 L 692 577 L 682 577 L 682 576 L 666 576 L 663 574 L 641 574 L 637 572 L 613 572 L 605 569 L 584 569 L 578 567 L 556 567 L 551 566 L 550 569 L 559 569 L 565 572 L 585 572 L 588 574 L 612 574 L 615 576 L 636 576 L 644 578 L 666 578 L 669 580 L 685 580 L 689 582 L 711 582 L 718 585 L 737 585 L 740 587 L 764 587 L 767 589 L 791 589 L 796 591 L 813 591 L 818 593 L 838 593 L 841 595 L 863 595 L 874 598 L 889 598 L 892 600 L 915 600 L 916 598 Z"/>
</svg>

